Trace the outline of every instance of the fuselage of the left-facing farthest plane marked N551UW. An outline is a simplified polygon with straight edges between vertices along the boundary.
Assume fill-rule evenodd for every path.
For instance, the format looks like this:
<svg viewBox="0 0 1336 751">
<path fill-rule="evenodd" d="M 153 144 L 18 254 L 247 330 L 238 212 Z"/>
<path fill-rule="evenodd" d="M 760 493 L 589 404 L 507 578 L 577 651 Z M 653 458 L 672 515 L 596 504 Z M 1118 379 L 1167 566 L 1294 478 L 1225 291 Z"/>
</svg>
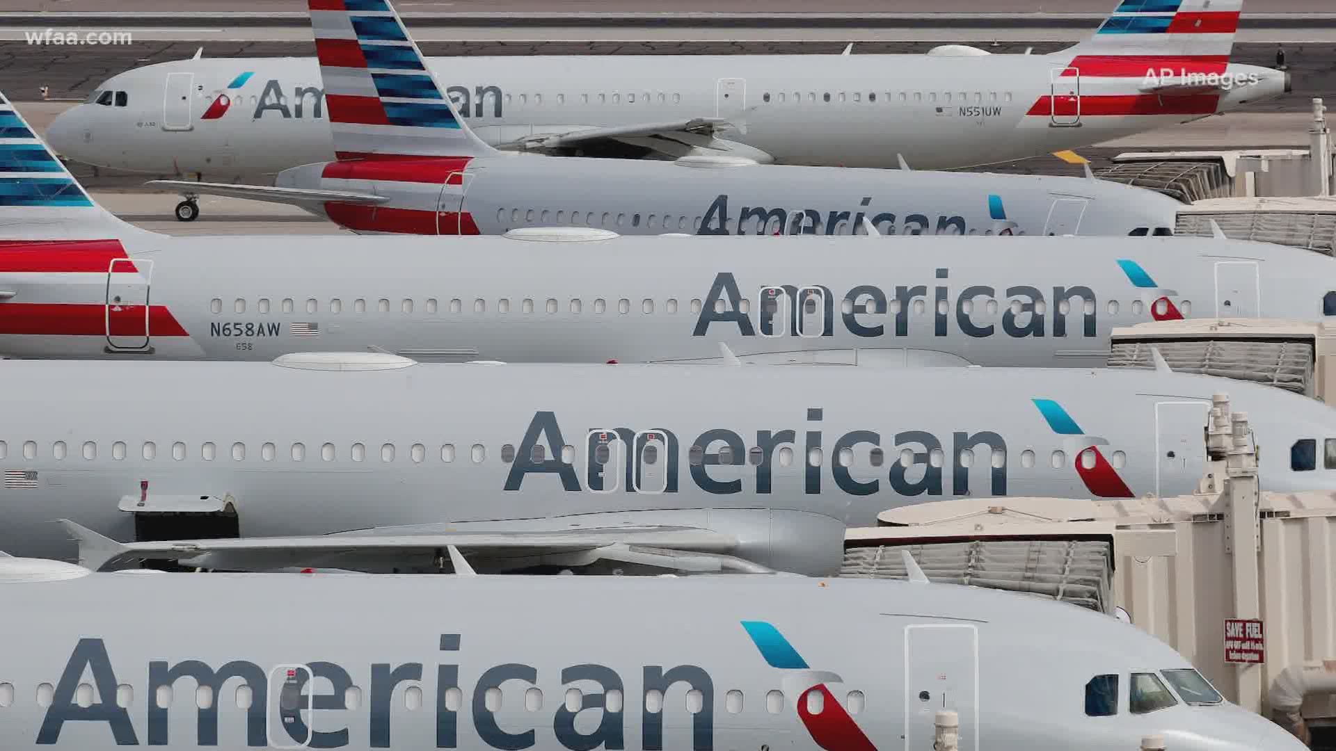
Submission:
<svg viewBox="0 0 1336 751">
<path fill-rule="evenodd" d="M 1244 82 L 1229 91 L 1160 96 L 1138 92 L 1137 80 L 1074 75 L 1071 63 L 1070 52 L 1057 52 L 444 57 L 432 67 L 469 126 L 493 144 L 719 118 L 736 127 L 668 154 L 699 146 L 846 167 L 894 167 L 896 155 L 915 168 L 1021 159 L 1193 120 L 1285 88 L 1280 72 L 1228 64 L 1226 75 Z M 48 138 L 59 151 L 106 167 L 216 180 L 334 159 L 311 57 L 162 63 L 114 76 L 99 95 L 112 90 L 127 94 L 124 107 L 83 104 L 52 124 Z M 227 107 L 215 107 L 219 96 Z M 218 114 L 203 119 L 211 110 Z"/>
</svg>

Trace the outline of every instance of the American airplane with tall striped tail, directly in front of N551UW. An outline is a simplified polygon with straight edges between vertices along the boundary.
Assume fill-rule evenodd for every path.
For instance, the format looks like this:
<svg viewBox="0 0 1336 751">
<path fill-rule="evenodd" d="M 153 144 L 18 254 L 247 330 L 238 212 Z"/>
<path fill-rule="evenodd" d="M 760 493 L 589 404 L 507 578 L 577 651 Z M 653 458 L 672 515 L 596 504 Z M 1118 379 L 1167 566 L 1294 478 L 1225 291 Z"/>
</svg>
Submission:
<svg viewBox="0 0 1336 751">
<path fill-rule="evenodd" d="M 199 216 L 196 196 L 211 194 L 293 203 L 358 233 L 476 235 L 566 224 L 619 234 L 832 235 L 866 233 L 867 218 L 882 234 L 1173 234 L 1176 200 L 1093 175 L 762 166 L 733 156 L 516 159 L 472 132 L 393 5 L 383 8 L 311 11 L 339 160 L 285 170 L 274 186 L 151 182 L 186 196 L 178 219 Z M 379 40 L 385 31 L 365 17 L 389 24 L 402 41 Z M 373 72 L 363 57 L 330 52 L 349 41 L 395 52 L 413 69 Z"/>
</svg>

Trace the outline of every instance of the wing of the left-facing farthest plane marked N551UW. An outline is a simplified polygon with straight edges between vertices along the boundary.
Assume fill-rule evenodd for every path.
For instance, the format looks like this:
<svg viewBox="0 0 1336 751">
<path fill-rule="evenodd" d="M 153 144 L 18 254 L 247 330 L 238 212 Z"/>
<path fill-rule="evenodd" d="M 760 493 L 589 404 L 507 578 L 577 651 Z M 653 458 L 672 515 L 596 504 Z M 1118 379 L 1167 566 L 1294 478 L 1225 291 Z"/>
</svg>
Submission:
<svg viewBox="0 0 1336 751">
<path fill-rule="evenodd" d="M 693 150 L 733 152 L 740 147 L 748 158 L 772 162 L 768 154 L 754 147 L 743 147 L 720 138 L 729 130 L 747 132 L 745 124 L 723 118 L 695 118 L 665 123 L 637 123 L 605 128 L 580 128 L 561 134 L 534 134 L 502 143 L 498 148 L 510 151 L 562 152 L 597 147 L 600 143 L 620 143 L 644 147 L 671 158 L 684 156 Z"/>
</svg>

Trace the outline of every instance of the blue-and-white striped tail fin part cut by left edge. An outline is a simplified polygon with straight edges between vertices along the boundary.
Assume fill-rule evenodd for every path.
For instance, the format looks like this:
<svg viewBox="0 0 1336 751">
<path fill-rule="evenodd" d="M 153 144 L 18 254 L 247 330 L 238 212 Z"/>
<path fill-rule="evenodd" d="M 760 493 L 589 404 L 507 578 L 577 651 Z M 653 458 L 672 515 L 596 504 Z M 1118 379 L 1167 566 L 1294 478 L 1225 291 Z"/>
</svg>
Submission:
<svg viewBox="0 0 1336 751">
<path fill-rule="evenodd" d="M 130 227 L 98 206 L 0 94 L 0 239 L 107 237 Z"/>
</svg>

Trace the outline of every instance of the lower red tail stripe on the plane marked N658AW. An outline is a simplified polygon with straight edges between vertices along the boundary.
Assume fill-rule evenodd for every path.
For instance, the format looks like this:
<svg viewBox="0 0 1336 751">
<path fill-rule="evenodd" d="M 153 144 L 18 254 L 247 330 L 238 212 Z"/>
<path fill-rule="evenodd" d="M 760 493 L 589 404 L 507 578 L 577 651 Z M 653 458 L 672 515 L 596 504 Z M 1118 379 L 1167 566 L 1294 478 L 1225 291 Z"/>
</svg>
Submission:
<svg viewBox="0 0 1336 751">
<path fill-rule="evenodd" d="M 0 303 L 0 334 L 106 337 L 108 322 L 112 335 L 144 335 L 144 309 L 142 306 L 123 306 L 122 310 L 112 311 L 108 321 L 107 306 L 98 303 Z M 190 335 L 163 305 L 150 306 L 148 331 L 154 337 Z"/>
</svg>

